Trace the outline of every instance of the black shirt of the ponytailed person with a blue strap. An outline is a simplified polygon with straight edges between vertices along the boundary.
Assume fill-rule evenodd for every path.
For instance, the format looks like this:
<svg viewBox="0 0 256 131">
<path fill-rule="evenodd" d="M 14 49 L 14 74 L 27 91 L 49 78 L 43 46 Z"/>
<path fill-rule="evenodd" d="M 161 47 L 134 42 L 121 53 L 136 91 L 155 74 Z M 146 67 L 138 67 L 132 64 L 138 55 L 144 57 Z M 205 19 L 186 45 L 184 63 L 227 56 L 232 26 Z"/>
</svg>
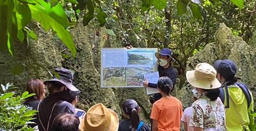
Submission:
<svg viewBox="0 0 256 131">
<path fill-rule="evenodd" d="M 118 131 L 131 131 L 131 121 L 130 119 L 125 119 L 120 121 Z M 150 131 L 150 128 L 146 123 L 143 123 L 139 131 Z"/>
</svg>

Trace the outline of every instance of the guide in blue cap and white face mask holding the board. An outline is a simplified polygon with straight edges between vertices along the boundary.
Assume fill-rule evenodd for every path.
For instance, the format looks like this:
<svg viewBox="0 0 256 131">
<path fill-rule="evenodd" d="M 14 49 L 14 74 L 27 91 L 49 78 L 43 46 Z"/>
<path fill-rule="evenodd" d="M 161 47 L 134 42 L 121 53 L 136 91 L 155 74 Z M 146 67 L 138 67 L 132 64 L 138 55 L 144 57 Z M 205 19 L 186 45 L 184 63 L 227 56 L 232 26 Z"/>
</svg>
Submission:
<svg viewBox="0 0 256 131">
<path fill-rule="evenodd" d="M 159 60 L 159 66 L 158 66 L 158 72 L 159 77 L 169 77 L 172 80 L 173 88 L 171 90 L 171 93 L 174 89 L 176 79 L 177 79 L 177 72 L 176 70 L 171 66 L 172 62 L 172 50 L 170 49 L 162 49 L 160 52 L 156 52 L 155 54 L 156 58 Z M 150 88 L 157 88 L 157 84 L 150 83 L 145 79 L 143 81 L 143 86 L 150 87 Z M 150 103 L 154 104 L 157 100 L 162 98 L 162 95 L 160 93 L 154 94 L 154 96 L 150 96 Z"/>
</svg>

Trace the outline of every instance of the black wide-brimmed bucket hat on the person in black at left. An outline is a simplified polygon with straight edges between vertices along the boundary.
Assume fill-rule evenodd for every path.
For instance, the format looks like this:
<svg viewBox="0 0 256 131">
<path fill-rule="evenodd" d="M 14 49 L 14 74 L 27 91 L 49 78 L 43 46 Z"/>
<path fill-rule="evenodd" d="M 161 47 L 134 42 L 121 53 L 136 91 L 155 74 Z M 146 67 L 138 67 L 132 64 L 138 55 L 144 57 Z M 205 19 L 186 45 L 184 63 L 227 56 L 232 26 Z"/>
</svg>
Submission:
<svg viewBox="0 0 256 131">
<path fill-rule="evenodd" d="M 71 91 L 79 91 L 75 86 L 73 86 L 72 81 L 74 79 L 74 73 L 72 73 L 70 70 L 67 70 L 65 68 L 56 68 L 54 72 L 58 73 L 60 75 L 60 79 L 56 77 L 56 75 L 53 75 L 51 80 L 45 81 L 44 84 L 47 82 L 54 82 L 58 81 L 64 84 L 68 89 Z"/>
</svg>

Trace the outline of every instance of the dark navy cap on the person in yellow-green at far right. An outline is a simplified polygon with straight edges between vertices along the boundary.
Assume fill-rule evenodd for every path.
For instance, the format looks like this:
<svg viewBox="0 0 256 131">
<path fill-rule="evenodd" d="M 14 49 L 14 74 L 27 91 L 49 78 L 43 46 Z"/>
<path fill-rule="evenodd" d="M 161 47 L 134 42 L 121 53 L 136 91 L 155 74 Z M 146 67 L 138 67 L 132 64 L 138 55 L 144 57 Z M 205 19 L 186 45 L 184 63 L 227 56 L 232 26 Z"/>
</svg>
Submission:
<svg viewBox="0 0 256 131">
<path fill-rule="evenodd" d="M 237 65 L 234 61 L 230 59 L 223 59 L 215 61 L 214 68 L 221 76 L 223 76 L 226 80 L 233 79 L 236 75 Z"/>
</svg>

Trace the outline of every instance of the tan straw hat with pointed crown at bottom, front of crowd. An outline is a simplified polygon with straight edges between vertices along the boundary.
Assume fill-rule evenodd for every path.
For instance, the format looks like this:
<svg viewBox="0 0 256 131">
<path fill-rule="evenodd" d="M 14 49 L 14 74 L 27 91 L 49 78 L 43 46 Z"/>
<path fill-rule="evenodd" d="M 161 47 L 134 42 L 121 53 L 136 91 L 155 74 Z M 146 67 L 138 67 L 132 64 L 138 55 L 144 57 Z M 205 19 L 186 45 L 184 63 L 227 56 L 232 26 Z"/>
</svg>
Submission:
<svg viewBox="0 0 256 131">
<path fill-rule="evenodd" d="M 79 130 L 81 131 L 117 131 L 118 116 L 116 112 L 106 108 L 103 104 L 93 105 L 84 119 L 81 120 Z"/>
</svg>

